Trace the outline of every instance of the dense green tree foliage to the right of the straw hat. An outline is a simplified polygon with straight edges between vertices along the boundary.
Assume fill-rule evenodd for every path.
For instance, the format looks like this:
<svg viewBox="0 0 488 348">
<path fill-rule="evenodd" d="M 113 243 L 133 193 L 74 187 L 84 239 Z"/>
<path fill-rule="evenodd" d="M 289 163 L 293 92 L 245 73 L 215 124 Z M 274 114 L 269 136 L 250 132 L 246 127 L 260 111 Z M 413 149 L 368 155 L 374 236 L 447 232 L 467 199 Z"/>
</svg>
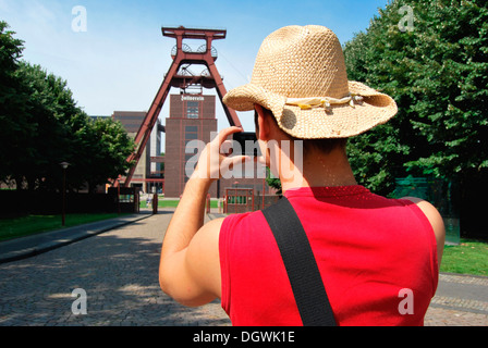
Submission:
<svg viewBox="0 0 488 348">
<path fill-rule="evenodd" d="M 403 5 L 413 30 L 400 30 Z M 408 171 L 451 179 L 488 167 L 488 4 L 392 1 L 344 46 L 350 79 L 392 96 L 398 115 L 350 142 L 362 184 L 391 192 Z"/>
</svg>

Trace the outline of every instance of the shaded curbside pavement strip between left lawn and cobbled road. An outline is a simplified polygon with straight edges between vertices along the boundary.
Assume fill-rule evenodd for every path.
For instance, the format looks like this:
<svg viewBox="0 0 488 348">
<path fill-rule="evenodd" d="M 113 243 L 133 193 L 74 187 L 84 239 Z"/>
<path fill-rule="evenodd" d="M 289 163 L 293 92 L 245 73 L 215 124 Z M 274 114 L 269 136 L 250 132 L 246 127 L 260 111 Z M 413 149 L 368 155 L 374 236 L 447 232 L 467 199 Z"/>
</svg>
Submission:
<svg viewBox="0 0 488 348">
<path fill-rule="evenodd" d="M 102 234 L 105 232 L 123 227 L 129 224 L 133 224 L 137 221 L 150 216 L 152 216 L 152 214 L 115 217 L 106 221 L 98 221 L 89 224 L 58 229 L 53 232 L 46 232 L 34 236 L 1 241 L 0 264 L 28 259 L 68 246 L 70 244 Z M 40 243 L 35 244 L 34 246 L 26 246 L 29 240 L 30 244 L 33 244 L 34 239 L 39 239 Z"/>
</svg>

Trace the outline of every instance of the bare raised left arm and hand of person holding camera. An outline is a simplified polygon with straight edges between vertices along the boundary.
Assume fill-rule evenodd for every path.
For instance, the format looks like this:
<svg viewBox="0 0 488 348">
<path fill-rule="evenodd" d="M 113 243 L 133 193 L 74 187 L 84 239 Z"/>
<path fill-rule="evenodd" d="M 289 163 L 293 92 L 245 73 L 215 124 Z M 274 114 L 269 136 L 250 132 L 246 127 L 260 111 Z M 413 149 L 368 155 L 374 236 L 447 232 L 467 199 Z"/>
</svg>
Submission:
<svg viewBox="0 0 488 348">
<path fill-rule="evenodd" d="M 221 295 L 219 235 L 223 220 L 204 225 L 205 200 L 210 185 L 222 174 L 220 167 L 247 159 L 220 153 L 227 137 L 241 130 L 227 128 L 207 145 L 166 232 L 159 284 L 164 293 L 186 306 L 206 304 Z"/>
</svg>

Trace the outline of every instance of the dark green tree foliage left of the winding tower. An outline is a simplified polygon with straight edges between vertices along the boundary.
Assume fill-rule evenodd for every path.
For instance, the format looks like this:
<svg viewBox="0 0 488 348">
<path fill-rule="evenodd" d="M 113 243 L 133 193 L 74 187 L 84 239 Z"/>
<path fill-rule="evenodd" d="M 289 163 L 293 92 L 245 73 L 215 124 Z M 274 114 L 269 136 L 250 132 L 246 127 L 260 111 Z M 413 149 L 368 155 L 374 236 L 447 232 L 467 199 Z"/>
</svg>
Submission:
<svg viewBox="0 0 488 348">
<path fill-rule="evenodd" d="M 124 174 L 134 142 L 122 125 L 93 121 L 65 80 L 20 61 L 23 44 L 7 28 L 0 22 L 0 181 L 13 179 L 17 189 L 58 189 L 64 161 L 72 189 Z"/>
</svg>

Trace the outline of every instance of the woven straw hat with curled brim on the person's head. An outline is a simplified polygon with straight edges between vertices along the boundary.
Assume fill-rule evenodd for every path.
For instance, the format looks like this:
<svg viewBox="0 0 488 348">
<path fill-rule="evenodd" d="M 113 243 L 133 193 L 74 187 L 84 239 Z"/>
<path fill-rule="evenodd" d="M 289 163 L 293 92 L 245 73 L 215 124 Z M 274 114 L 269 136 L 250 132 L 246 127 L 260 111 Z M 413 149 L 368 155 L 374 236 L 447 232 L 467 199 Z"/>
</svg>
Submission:
<svg viewBox="0 0 488 348">
<path fill-rule="evenodd" d="M 272 111 L 285 133 L 301 139 L 346 138 L 395 115 L 394 100 L 349 82 L 338 37 L 318 26 L 286 26 L 269 35 L 256 58 L 251 83 L 223 102 L 237 111 L 258 103 Z"/>
</svg>

